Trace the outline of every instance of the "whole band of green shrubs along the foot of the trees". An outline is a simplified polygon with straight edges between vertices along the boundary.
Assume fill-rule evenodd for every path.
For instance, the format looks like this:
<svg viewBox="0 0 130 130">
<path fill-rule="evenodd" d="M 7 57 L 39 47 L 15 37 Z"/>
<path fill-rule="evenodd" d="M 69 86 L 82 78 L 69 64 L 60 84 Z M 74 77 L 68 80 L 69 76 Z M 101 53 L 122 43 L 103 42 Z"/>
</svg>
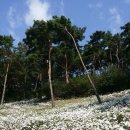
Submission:
<svg viewBox="0 0 130 130">
<path fill-rule="evenodd" d="M 92 80 L 99 92 L 99 94 L 107 94 L 124 89 L 130 89 L 130 71 L 119 69 L 117 66 L 109 66 L 98 75 L 92 75 Z M 63 80 L 53 80 L 52 86 L 55 98 L 72 98 L 72 97 L 86 97 L 95 94 L 87 78 L 87 75 L 70 78 L 68 84 Z M 7 90 L 5 101 L 16 101 L 31 98 L 41 98 L 46 96 L 50 99 L 50 88 L 48 80 L 45 80 L 42 85 L 38 83 L 36 92 L 34 92 L 35 84 L 28 86 L 14 86 L 7 83 Z M 2 88 L 2 87 L 1 87 Z M 0 95 L 2 94 L 2 90 Z"/>
</svg>

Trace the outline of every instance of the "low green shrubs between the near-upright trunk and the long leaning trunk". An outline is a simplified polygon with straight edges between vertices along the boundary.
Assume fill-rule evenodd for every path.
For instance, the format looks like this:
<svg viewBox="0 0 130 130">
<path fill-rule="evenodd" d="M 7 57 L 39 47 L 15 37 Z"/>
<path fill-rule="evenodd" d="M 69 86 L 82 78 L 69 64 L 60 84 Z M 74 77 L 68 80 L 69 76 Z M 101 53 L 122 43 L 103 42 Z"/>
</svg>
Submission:
<svg viewBox="0 0 130 130">
<path fill-rule="evenodd" d="M 54 81 L 54 95 L 58 98 L 86 97 L 94 94 L 87 76 L 76 77 L 65 84 L 63 81 Z"/>
</svg>

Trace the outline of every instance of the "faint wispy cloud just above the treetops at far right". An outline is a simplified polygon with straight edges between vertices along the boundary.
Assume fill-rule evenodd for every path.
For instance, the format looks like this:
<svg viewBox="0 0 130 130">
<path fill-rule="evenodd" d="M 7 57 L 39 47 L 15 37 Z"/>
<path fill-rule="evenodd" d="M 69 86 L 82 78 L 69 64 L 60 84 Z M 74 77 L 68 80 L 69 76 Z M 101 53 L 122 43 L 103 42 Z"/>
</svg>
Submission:
<svg viewBox="0 0 130 130">
<path fill-rule="evenodd" d="M 108 20 L 110 24 L 109 28 L 111 29 L 112 33 L 115 34 L 120 31 L 120 27 L 123 24 L 123 20 L 116 8 L 110 8 L 109 13 L 110 13 L 110 18 Z"/>
</svg>

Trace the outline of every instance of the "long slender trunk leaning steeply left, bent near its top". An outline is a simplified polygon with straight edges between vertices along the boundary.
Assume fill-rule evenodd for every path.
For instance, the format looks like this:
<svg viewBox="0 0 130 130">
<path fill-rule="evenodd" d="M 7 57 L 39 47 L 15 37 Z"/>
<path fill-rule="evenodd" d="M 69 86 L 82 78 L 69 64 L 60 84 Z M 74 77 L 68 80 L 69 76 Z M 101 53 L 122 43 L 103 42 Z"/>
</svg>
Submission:
<svg viewBox="0 0 130 130">
<path fill-rule="evenodd" d="M 66 30 L 66 32 L 71 36 L 71 38 L 73 39 L 74 46 L 75 46 L 76 51 L 77 51 L 77 53 L 78 53 L 78 55 L 79 55 L 80 61 L 81 61 L 81 63 L 82 63 L 82 66 L 83 66 L 85 72 L 87 72 L 87 77 L 88 77 L 88 79 L 89 79 L 89 81 L 90 81 L 90 83 L 91 83 L 91 85 L 92 85 L 92 87 L 93 87 L 93 89 L 94 89 L 94 92 L 95 92 L 95 95 L 96 95 L 96 97 L 97 97 L 97 100 L 98 100 L 98 102 L 101 104 L 102 101 L 101 101 L 100 96 L 99 96 L 99 94 L 98 94 L 98 92 L 97 92 L 97 89 L 96 89 L 96 87 L 95 87 L 95 84 L 93 83 L 93 81 L 92 81 L 90 75 L 88 74 L 88 70 L 87 70 L 87 68 L 86 68 L 86 66 L 85 66 L 85 64 L 84 64 L 84 62 L 83 62 L 83 59 L 82 59 L 82 57 L 81 57 L 81 54 L 80 54 L 80 52 L 79 52 L 79 50 L 78 50 L 78 47 L 77 47 L 77 45 L 76 45 L 75 39 L 74 39 L 74 37 L 72 36 L 72 34 L 67 30 L 67 27 L 65 27 L 65 30 Z"/>
</svg>

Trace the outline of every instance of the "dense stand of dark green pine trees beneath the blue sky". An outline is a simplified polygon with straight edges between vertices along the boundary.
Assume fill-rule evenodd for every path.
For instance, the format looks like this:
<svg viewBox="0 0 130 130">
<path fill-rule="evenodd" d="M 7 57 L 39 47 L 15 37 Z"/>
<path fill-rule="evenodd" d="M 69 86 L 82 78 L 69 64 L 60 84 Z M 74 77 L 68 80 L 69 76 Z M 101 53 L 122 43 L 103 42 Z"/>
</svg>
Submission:
<svg viewBox="0 0 130 130">
<path fill-rule="evenodd" d="M 42 95 L 49 98 L 49 81 L 54 86 L 50 88 L 54 89 L 55 98 L 70 97 L 68 94 L 87 96 L 93 94 L 93 90 L 87 90 L 90 84 L 84 79 L 86 74 L 93 78 L 97 86 L 103 83 L 106 85 L 101 75 L 105 76 L 106 80 L 109 76 L 113 76 L 114 79 L 117 73 L 117 77 L 119 74 L 123 77 L 126 72 L 129 75 L 130 23 L 121 27 L 121 33 L 114 35 L 110 31 L 96 31 L 84 46 L 80 46 L 79 41 L 85 38 L 85 30 L 85 27 L 72 25 L 70 19 L 64 16 L 54 16 L 47 22 L 34 21 L 33 26 L 26 30 L 26 37 L 17 47 L 13 46 L 14 40 L 11 36 L 0 35 L 1 102 L 39 98 Z M 84 71 L 76 52 L 73 38 L 67 31 L 75 40 L 87 72 Z M 108 75 L 107 72 L 111 70 L 113 73 Z M 115 70 L 118 71 L 116 74 Z M 124 76 L 122 80 L 127 79 Z M 87 89 L 83 88 L 83 82 L 88 85 Z M 124 82 L 129 84 L 130 80 Z M 109 87 L 112 85 L 108 84 L 103 91 L 111 92 Z M 115 91 L 117 90 L 115 88 Z"/>
</svg>

